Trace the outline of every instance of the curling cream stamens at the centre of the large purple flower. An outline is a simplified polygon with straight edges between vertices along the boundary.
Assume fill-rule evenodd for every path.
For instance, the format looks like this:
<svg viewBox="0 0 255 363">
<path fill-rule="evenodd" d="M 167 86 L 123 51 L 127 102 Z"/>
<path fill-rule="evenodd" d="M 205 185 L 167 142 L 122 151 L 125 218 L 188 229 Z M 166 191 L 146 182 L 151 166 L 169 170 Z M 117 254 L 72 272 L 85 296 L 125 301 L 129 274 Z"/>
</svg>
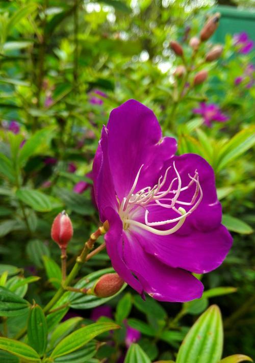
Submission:
<svg viewBox="0 0 255 363">
<path fill-rule="evenodd" d="M 167 174 L 171 169 L 171 167 L 166 169 L 164 177 L 161 175 L 158 180 L 158 183 L 153 188 L 146 187 L 134 193 L 143 166 L 144 164 L 140 167 L 129 194 L 123 198 L 119 206 L 119 216 L 123 222 L 123 228 L 127 229 L 129 228 L 130 225 L 134 225 L 142 229 L 145 229 L 149 232 L 152 232 L 156 235 L 161 235 L 161 236 L 170 235 L 181 228 L 186 218 L 197 208 L 200 201 L 202 200 L 203 193 L 201 186 L 199 184 L 198 172 L 197 170 L 195 170 L 194 176 L 188 174 L 190 182 L 188 185 L 183 187 L 181 176 L 177 171 L 175 164 L 173 162 L 173 169 L 176 174 L 176 177 L 174 177 L 171 180 L 168 188 L 166 188 L 165 184 L 166 184 Z M 176 184 L 176 182 L 177 182 L 177 187 L 173 189 L 173 184 L 174 183 Z M 195 188 L 194 188 L 194 193 L 191 196 L 190 200 L 189 201 L 180 200 L 179 198 L 182 198 L 181 196 L 182 192 L 187 191 L 192 186 L 195 186 Z M 176 213 L 176 218 L 171 218 L 163 221 L 149 222 L 148 207 L 152 205 L 158 205 L 163 209 L 171 209 Z M 190 206 L 191 208 L 189 209 L 188 212 L 186 212 L 186 210 L 181 205 Z M 145 210 L 144 223 L 138 222 L 134 219 L 135 213 L 138 208 L 143 208 Z M 159 230 L 154 228 L 157 226 L 164 226 L 172 223 L 176 224 L 172 228 L 167 230 Z"/>
</svg>

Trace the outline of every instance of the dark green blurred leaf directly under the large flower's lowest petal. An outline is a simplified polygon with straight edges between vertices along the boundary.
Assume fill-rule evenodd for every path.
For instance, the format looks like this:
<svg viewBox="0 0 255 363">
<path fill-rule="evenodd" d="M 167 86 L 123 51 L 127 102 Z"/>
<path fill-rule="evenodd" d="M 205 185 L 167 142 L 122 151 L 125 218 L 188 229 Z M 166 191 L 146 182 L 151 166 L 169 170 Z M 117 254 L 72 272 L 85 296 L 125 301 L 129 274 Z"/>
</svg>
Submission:
<svg viewBox="0 0 255 363">
<path fill-rule="evenodd" d="M 167 316 L 164 308 L 151 297 L 147 297 L 144 301 L 140 295 L 135 295 L 134 305 L 140 312 L 147 315 L 153 315 L 157 319 L 165 319 Z"/>
</svg>

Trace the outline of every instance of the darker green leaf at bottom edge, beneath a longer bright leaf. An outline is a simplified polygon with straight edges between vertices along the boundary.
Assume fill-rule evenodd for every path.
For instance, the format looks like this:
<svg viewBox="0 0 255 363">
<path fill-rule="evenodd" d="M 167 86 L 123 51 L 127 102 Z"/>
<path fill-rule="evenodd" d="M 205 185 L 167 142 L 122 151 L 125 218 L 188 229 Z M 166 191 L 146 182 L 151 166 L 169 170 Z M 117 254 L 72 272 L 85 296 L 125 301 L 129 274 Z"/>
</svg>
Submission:
<svg viewBox="0 0 255 363">
<path fill-rule="evenodd" d="M 85 363 L 88 359 L 96 354 L 97 345 L 95 341 L 89 342 L 85 347 L 82 347 L 70 354 L 62 355 L 54 359 L 56 363 Z"/>
</svg>

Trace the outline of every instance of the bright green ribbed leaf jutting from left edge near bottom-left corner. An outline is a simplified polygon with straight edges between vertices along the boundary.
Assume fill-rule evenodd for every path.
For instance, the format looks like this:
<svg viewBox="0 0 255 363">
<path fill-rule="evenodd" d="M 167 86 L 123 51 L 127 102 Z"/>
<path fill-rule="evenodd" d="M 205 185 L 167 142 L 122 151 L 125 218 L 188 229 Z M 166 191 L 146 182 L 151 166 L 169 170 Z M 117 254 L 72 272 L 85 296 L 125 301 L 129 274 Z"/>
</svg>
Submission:
<svg viewBox="0 0 255 363">
<path fill-rule="evenodd" d="M 17 355 L 22 359 L 32 360 L 33 362 L 40 361 L 39 355 L 33 348 L 14 339 L 0 337 L 0 349 Z"/>
</svg>

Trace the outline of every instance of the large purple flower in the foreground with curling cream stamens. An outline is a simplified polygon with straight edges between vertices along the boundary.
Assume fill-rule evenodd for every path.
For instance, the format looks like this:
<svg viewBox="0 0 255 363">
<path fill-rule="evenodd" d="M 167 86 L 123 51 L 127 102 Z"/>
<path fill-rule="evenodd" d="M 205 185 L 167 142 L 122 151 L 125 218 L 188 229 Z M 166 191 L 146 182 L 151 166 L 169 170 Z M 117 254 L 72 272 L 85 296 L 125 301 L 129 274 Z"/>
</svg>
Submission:
<svg viewBox="0 0 255 363">
<path fill-rule="evenodd" d="M 212 167 L 196 154 L 174 156 L 176 148 L 154 113 L 129 100 L 103 127 L 93 181 L 115 271 L 142 297 L 184 302 L 202 295 L 192 272 L 216 269 L 232 237 Z"/>
</svg>

